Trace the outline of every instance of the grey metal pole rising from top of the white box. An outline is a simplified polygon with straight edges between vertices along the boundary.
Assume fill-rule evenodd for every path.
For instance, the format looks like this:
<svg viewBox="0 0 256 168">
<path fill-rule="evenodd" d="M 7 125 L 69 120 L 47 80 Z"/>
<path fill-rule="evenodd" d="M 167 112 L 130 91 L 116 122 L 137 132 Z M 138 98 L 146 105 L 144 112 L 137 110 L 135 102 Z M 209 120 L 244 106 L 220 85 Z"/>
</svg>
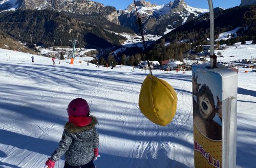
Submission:
<svg viewBox="0 0 256 168">
<path fill-rule="evenodd" d="M 210 68 L 214 66 L 214 5 L 212 0 L 208 0 L 209 11 L 210 11 Z"/>
</svg>

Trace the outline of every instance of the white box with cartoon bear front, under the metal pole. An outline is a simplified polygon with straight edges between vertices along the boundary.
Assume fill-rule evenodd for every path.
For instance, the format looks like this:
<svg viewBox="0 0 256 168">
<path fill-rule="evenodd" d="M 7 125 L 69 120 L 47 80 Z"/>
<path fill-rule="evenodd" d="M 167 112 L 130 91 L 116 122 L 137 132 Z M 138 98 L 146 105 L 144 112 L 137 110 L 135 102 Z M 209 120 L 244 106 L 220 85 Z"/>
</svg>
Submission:
<svg viewBox="0 0 256 168">
<path fill-rule="evenodd" d="M 238 74 L 192 67 L 195 167 L 236 167 Z"/>
</svg>

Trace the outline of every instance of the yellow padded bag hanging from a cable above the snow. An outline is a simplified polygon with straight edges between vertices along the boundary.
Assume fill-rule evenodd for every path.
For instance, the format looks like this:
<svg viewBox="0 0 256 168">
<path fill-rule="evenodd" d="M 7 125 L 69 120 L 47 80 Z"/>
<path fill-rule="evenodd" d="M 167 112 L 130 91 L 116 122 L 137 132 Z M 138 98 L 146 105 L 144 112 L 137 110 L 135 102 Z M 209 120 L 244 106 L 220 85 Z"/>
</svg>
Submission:
<svg viewBox="0 0 256 168">
<path fill-rule="evenodd" d="M 176 113 L 177 94 L 166 81 L 151 74 L 142 83 L 139 107 L 142 114 L 155 124 L 166 126 Z"/>
</svg>

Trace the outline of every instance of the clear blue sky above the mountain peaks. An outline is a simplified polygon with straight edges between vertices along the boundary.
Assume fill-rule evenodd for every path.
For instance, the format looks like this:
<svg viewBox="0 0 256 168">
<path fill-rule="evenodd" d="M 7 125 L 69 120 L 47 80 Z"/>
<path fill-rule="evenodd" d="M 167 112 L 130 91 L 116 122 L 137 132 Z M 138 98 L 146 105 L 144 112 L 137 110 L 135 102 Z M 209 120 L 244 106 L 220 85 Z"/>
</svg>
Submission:
<svg viewBox="0 0 256 168">
<path fill-rule="evenodd" d="M 133 3 L 133 0 L 93 0 L 93 1 L 100 2 L 105 6 L 110 5 L 110 6 L 116 7 L 116 9 L 122 9 L 122 10 L 127 8 L 129 4 Z M 148 0 L 148 2 L 151 2 L 152 4 L 155 3 L 157 5 L 163 5 L 170 2 L 170 0 Z M 204 9 L 209 8 L 207 0 L 185 0 L 185 2 L 191 7 L 204 8 Z M 214 8 L 222 7 L 227 9 L 227 8 L 240 5 L 241 0 L 212 0 L 212 3 L 214 4 Z"/>
</svg>

